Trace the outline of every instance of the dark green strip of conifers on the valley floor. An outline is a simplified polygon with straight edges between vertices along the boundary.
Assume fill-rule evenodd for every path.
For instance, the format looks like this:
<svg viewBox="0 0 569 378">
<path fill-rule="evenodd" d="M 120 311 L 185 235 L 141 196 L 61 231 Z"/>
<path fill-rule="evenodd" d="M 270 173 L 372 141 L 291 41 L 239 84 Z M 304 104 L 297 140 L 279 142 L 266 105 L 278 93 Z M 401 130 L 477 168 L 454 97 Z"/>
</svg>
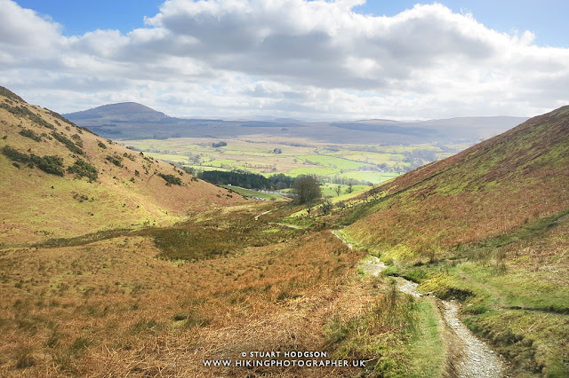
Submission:
<svg viewBox="0 0 569 378">
<path fill-rule="evenodd" d="M 293 185 L 293 177 L 282 173 L 271 177 L 244 171 L 204 170 L 198 177 L 215 185 L 236 185 L 246 189 L 281 190 Z"/>
</svg>

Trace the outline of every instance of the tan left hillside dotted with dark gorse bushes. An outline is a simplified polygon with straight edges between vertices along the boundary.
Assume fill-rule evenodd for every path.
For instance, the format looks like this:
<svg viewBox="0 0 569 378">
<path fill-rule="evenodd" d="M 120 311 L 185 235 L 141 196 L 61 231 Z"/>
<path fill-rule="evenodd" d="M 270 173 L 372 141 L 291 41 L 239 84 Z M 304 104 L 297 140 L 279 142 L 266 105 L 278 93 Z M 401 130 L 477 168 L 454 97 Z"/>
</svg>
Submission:
<svg viewBox="0 0 569 378">
<path fill-rule="evenodd" d="M 240 201 L 0 88 L 0 243 L 171 224 Z"/>
</svg>

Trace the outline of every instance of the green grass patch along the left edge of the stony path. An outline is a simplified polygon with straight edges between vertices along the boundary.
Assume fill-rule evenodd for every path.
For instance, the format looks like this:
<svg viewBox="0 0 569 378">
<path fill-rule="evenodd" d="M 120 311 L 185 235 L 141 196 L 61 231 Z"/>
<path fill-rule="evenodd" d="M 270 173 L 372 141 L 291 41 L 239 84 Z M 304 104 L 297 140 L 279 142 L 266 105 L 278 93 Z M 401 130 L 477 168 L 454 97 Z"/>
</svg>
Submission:
<svg viewBox="0 0 569 378">
<path fill-rule="evenodd" d="M 380 294 L 359 315 L 334 315 L 325 326 L 335 358 L 366 358 L 363 376 L 444 376 L 445 347 L 437 307 L 359 274 Z M 377 295 L 377 294 L 376 294 Z"/>
</svg>

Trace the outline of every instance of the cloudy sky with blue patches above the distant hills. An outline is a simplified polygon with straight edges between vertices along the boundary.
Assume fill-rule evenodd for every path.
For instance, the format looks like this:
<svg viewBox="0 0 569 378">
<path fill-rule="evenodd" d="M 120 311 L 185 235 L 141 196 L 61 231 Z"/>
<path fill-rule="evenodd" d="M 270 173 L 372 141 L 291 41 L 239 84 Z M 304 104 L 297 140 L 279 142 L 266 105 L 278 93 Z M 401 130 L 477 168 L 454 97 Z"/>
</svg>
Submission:
<svg viewBox="0 0 569 378">
<path fill-rule="evenodd" d="M 565 3 L 0 0 L 0 85 L 60 113 L 530 116 L 569 104 Z"/>
</svg>

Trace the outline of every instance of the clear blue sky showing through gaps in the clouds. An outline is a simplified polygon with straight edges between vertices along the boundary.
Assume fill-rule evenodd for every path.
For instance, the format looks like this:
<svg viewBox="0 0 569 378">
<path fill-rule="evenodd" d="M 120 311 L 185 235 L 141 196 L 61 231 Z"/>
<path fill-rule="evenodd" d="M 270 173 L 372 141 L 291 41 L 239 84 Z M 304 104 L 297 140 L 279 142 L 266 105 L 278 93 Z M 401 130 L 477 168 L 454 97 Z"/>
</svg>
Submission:
<svg viewBox="0 0 569 378">
<path fill-rule="evenodd" d="M 63 26 L 63 35 L 81 35 L 95 29 L 118 29 L 127 33 L 144 26 L 144 16 L 152 17 L 163 0 L 19 0 L 30 8 Z M 355 12 L 375 16 L 393 16 L 414 4 L 432 4 L 432 1 L 375 0 L 354 8 Z M 511 33 L 512 30 L 530 30 L 541 45 L 569 47 L 569 1 L 566 0 L 439 0 L 453 12 L 471 12 L 487 28 Z"/>
</svg>

